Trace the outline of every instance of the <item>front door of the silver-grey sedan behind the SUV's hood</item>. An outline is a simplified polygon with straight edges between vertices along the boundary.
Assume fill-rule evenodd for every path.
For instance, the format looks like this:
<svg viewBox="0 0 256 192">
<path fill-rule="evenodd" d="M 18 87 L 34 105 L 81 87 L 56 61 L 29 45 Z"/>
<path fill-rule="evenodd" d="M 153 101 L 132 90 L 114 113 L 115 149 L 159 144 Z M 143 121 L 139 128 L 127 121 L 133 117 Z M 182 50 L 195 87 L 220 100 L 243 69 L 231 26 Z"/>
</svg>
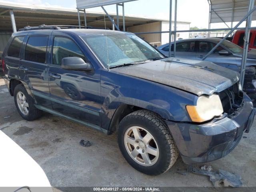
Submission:
<svg viewBox="0 0 256 192">
<path fill-rule="evenodd" d="M 197 60 L 202 60 L 214 46 L 216 46 L 215 43 L 213 42 L 208 42 L 208 41 L 197 41 L 197 53 L 196 53 L 196 59 Z M 217 65 L 231 68 L 231 69 L 236 69 L 237 68 L 237 60 L 235 57 L 232 56 L 232 54 L 228 55 L 220 55 L 219 51 L 221 50 L 226 50 L 222 46 L 218 46 L 214 50 L 212 54 L 210 54 L 205 60 L 206 61 L 211 61 L 214 62 Z"/>
</svg>

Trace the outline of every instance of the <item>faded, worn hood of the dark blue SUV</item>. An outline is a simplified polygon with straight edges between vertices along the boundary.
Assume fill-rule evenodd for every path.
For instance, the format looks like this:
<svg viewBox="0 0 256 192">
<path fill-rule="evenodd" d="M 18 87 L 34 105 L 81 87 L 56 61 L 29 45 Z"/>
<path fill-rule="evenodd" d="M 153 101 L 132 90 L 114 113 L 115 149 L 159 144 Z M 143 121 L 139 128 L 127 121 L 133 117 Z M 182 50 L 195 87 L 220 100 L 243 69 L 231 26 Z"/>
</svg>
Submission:
<svg viewBox="0 0 256 192">
<path fill-rule="evenodd" d="M 239 79 L 237 72 L 212 62 L 182 58 L 165 58 L 112 70 L 178 88 L 198 96 L 221 92 Z"/>
</svg>

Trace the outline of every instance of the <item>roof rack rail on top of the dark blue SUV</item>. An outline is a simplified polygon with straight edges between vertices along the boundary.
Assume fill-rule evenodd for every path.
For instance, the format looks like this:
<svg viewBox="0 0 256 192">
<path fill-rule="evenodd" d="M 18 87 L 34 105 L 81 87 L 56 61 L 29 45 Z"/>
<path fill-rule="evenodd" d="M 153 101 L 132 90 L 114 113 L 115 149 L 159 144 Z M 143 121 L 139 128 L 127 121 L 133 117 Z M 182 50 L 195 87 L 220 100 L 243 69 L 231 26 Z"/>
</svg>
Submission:
<svg viewBox="0 0 256 192">
<path fill-rule="evenodd" d="M 40 29 L 60 30 L 60 29 L 78 29 L 78 28 L 92 29 L 91 26 L 85 27 L 85 26 L 77 26 L 77 25 L 45 25 L 45 24 L 42 24 L 38 27 L 26 26 L 22 29 L 19 29 L 18 31 L 40 30 Z"/>
</svg>

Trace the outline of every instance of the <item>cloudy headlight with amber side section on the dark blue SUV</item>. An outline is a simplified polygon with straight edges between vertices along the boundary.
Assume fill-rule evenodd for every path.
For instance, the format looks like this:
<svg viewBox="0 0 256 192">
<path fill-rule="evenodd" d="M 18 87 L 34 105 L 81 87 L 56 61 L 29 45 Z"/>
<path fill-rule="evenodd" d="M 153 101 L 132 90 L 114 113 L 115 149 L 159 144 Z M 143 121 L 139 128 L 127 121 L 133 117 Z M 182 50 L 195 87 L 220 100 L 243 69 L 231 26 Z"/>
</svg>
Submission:
<svg viewBox="0 0 256 192">
<path fill-rule="evenodd" d="M 222 103 L 217 94 L 200 96 L 196 106 L 187 105 L 186 109 L 193 122 L 204 122 L 223 113 Z"/>
</svg>

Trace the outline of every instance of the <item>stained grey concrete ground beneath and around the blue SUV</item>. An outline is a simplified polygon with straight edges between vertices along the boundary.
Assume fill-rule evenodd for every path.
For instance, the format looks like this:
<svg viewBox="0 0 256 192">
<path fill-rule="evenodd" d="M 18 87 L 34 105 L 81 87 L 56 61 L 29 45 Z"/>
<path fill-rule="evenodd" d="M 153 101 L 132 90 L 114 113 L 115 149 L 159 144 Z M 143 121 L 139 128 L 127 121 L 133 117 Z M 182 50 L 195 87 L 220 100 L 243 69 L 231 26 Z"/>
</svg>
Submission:
<svg viewBox="0 0 256 192">
<path fill-rule="evenodd" d="M 256 122 L 230 154 L 208 163 L 240 175 L 244 186 L 256 186 L 255 126 Z M 0 130 L 42 167 L 52 186 L 212 186 L 207 176 L 176 173 L 186 167 L 180 157 L 159 176 L 136 171 L 119 151 L 116 134 L 106 136 L 47 113 L 32 122 L 23 120 L 1 78 Z M 92 146 L 80 146 L 81 139 L 89 140 Z"/>
</svg>

